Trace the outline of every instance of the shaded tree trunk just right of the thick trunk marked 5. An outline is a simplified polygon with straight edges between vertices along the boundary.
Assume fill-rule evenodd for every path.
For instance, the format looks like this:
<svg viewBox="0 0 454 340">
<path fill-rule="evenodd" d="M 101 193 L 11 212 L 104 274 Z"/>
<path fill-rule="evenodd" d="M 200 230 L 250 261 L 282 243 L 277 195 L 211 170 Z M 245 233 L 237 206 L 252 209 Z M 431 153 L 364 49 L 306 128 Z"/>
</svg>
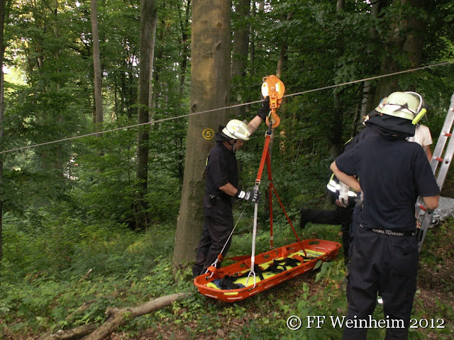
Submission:
<svg viewBox="0 0 454 340">
<path fill-rule="evenodd" d="M 238 104 L 238 96 L 243 94 L 245 89 L 243 86 L 242 78 L 245 77 L 246 62 L 248 61 L 248 46 L 249 46 L 249 16 L 250 16 L 250 0 L 238 0 L 237 4 L 237 15 L 238 15 L 238 27 L 233 32 L 233 47 L 232 47 L 232 67 L 231 67 L 231 79 L 236 85 L 236 91 L 233 91 L 233 97 L 231 105 Z M 245 106 L 239 106 L 238 108 L 232 108 L 231 114 L 240 118 L 245 119 Z"/>
</svg>

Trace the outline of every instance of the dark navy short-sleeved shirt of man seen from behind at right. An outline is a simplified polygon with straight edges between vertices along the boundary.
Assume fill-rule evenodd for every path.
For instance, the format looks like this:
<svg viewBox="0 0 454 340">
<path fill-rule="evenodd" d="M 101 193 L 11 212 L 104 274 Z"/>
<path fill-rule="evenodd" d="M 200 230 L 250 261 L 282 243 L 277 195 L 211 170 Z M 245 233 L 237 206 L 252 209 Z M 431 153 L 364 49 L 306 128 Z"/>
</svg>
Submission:
<svg viewBox="0 0 454 340">
<path fill-rule="evenodd" d="M 367 228 L 414 230 L 414 188 L 427 194 L 420 164 L 426 155 L 419 145 L 402 138 L 379 136 L 355 146 L 364 208 L 358 217 Z M 427 171 L 427 167 L 425 168 Z M 431 196 L 433 193 L 428 193 Z"/>
</svg>

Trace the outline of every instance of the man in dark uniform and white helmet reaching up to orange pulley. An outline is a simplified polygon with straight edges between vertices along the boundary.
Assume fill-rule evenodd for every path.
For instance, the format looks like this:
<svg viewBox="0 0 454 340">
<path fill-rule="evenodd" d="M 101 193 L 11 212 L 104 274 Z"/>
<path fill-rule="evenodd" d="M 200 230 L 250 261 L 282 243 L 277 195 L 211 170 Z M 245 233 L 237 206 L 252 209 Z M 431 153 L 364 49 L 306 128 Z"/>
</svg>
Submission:
<svg viewBox="0 0 454 340">
<path fill-rule="evenodd" d="M 192 276 L 206 272 L 222 251 L 222 256 L 231 244 L 233 230 L 232 199 L 258 202 L 259 191 L 243 191 L 238 188 L 238 166 L 236 151 L 240 149 L 250 135 L 257 130 L 270 112 L 270 98 L 263 101 L 262 108 L 249 123 L 230 120 L 226 127 L 219 126 L 216 132 L 216 145 L 210 150 L 206 162 L 206 186 L 204 193 L 205 222 L 196 262 L 192 267 Z M 220 266 L 220 262 L 216 266 Z"/>
</svg>

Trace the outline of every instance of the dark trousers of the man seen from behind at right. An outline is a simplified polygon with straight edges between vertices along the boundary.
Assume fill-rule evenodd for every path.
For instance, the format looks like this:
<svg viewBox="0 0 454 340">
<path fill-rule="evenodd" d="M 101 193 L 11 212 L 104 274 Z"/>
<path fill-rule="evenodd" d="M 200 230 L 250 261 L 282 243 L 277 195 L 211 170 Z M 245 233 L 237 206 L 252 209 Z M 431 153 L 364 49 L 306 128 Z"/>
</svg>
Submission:
<svg viewBox="0 0 454 340">
<path fill-rule="evenodd" d="M 355 219 L 353 224 L 346 319 L 369 320 L 377 304 L 377 293 L 380 292 L 383 320 L 396 320 L 389 323 L 394 327 L 387 327 L 385 339 L 408 339 L 419 261 L 416 237 L 368 231 L 357 225 Z M 366 339 L 366 336 L 365 327 L 344 327 L 344 340 L 361 340 Z"/>
</svg>

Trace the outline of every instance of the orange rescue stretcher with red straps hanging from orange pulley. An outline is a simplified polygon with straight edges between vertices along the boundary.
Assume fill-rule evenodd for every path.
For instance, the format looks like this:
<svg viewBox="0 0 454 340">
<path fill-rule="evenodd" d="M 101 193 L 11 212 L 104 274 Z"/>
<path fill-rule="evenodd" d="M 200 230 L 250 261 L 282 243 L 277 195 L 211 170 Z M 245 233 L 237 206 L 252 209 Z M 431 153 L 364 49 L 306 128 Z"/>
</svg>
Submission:
<svg viewBox="0 0 454 340">
<path fill-rule="evenodd" d="M 328 261 L 336 257 L 341 248 L 341 244 L 324 239 L 306 239 L 302 241 L 299 239 L 292 225 L 292 221 L 289 219 L 284 205 L 277 194 L 272 182 L 271 173 L 270 137 L 272 135 L 272 129 L 276 128 L 280 123 L 276 110 L 279 108 L 282 97 L 284 96 L 284 84 L 276 76 L 265 77 L 262 85 L 262 96 L 264 98 L 270 96 L 270 114 L 267 117 L 269 129 L 265 135 L 265 145 L 262 151 L 262 158 L 260 159 L 257 179 L 255 180 L 255 189 L 258 190 L 266 163 L 269 182 L 270 249 L 272 250 L 255 255 L 255 233 L 258 210 L 258 203 L 255 203 L 253 249 L 251 256 L 231 258 L 231 260 L 237 262 L 217 268 L 216 264 L 222 259 L 222 255 L 219 254 L 218 259 L 208 268 L 207 272 L 194 279 L 194 285 L 196 285 L 196 288 L 201 294 L 225 302 L 243 300 L 246 297 L 272 288 L 290 278 L 306 273 L 306 271 L 311 271 L 319 261 Z M 279 248 L 274 248 L 273 244 L 272 193 L 275 193 L 279 205 L 285 217 L 287 217 L 287 222 L 292 227 L 294 236 L 297 239 L 297 242 L 287 246 L 280 246 Z"/>
</svg>

